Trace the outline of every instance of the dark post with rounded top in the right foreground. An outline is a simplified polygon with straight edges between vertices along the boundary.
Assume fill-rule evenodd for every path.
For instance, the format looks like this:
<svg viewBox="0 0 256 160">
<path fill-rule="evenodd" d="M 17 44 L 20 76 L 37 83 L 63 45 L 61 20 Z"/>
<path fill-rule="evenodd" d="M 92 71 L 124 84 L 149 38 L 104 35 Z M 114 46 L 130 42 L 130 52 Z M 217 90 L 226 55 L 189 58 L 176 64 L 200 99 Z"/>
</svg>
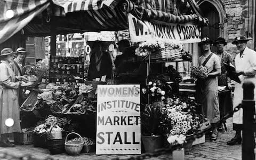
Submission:
<svg viewBox="0 0 256 160">
<path fill-rule="evenodd" d="M 246 81 L 243 84 L 244 99 L 243 99 L 243 143 L 242 143 L 242 159 L 254 160 L 254 132 L 253 123 L 255 115 L 254 101 L 254 84 Z"/>
</svg>

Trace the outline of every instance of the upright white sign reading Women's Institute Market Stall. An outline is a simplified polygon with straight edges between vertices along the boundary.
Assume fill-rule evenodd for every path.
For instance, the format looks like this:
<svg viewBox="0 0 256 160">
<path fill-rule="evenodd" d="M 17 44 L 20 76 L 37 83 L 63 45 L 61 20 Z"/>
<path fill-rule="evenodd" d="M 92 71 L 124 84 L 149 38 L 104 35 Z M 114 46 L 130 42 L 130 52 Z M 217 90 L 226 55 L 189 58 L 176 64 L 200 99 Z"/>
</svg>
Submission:
<svg viewBox="0 0 256 160">
<path fill-rule="evenodd" d="M 140 85 L 98 85 L 96 154 L 141 154 Z"/>
</svg>

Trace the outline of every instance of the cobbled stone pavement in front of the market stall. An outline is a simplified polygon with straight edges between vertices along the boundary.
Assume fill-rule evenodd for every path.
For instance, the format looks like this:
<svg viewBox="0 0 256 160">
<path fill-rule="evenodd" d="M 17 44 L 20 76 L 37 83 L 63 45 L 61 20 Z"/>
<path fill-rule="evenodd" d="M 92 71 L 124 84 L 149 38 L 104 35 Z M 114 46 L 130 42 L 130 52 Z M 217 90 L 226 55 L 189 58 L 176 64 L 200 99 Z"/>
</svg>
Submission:
<svg viewBox="0 0 256 160">
<path fill-rule="evenodd" d="M 191 160 L 206 160 L 206 159 L 221 159 L 221 160 L 231 160 L 231 159 L 242 159 L 242 147 L 241 145 L 228 146 L 226 142 L 234 137 L 234 131 L 232 131 L 232 119 L 229 118 L 227 121 L 228 131 L 220 132 L 218 140 L 215 142 L 210 142 L 209 138 L 206 138 L 206 142 L 200 145 L 193 146 L 193 148 L 186 153 L 185 159 Z M 60 155 L 50 155 L 50 152 L 47 149 L 43 148 L 35 148 L 33 145 L 25 145 L 25 146 L 16 146 L 12 148 L 1 148 L 0 147 L 0 159 L 1 155 L 3 157 L 3 153 L 7 153 L 15 156 L 22 156 L 25 154 L 30 154 L 32 157 L 36 157 L 38 159 L 45 159 L 46 157 L 52 159 L 126 159 L 131 157 L 131 155 L 102 155 L 98 156 L 94 153 L 90 154 L 80 154 L 77 156 L 69 156 L 67 154 Z M 8 158 L 11 159 L 11 158 Z M 153 158 L 147 158 L 150 160 L 167 160 L 172 159 L 172 154 L 167 153 Z"/>
</svg>

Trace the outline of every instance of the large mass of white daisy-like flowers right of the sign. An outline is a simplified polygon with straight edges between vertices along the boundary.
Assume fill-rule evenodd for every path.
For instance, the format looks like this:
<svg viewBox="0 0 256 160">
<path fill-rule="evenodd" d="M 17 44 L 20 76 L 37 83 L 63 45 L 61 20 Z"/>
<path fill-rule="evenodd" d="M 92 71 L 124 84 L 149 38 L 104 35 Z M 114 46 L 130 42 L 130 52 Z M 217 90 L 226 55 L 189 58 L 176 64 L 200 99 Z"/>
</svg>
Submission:
<svg viewBox="0 0 256 160">
<path fill-rule="evenodd" d="M 194 136 L 199 128 L 199 116 L 195 114 L 195 109 L 196 106 L 189 105 L 179 98 L 167 98 L 162 112 L 165 117 L 164 129 L 170 145 L 183 145 L 187 151 L 192 147 L 193 139 L 188 137 Z"/>
</svg>

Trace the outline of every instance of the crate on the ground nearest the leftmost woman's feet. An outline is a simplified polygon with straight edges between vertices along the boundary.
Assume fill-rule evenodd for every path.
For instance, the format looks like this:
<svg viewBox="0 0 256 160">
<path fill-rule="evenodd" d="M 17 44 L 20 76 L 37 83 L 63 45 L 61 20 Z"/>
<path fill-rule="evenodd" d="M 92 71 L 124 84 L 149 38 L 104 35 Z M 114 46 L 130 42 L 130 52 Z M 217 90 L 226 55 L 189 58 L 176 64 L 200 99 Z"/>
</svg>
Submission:
<svg viewBox="0 0 256 160">
<path fill-rule="evenodd" d="M 30 145 L 34 142 L 34 128 L 21 133 L 14 133 L 14 142 L 18 145 Z"/>
</svg>

